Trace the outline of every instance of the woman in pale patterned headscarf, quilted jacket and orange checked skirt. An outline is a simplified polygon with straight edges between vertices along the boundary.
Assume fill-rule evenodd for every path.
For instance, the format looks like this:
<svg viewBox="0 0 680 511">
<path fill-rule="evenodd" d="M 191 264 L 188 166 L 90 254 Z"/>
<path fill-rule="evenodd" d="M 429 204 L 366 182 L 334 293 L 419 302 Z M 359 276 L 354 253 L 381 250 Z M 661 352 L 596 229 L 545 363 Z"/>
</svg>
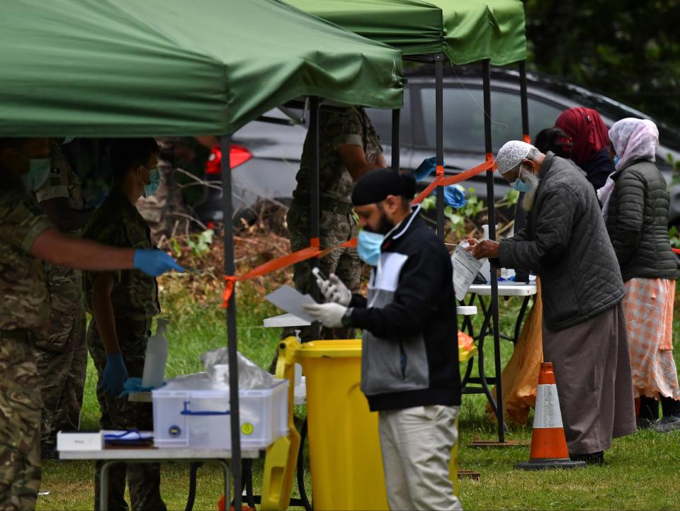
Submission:
<svg viewBox="0 0 680 511">
<path fill-rule="evenodd" d="M 659 131 L 626 118 L 609 130 L 616 172 L 600 190 L 607 230 L 626 288 L 626 330 L 638 427 L 680 429 L 680 387 L 673 359 L 673 302 L 678 265 L 668 238 L 669 193 L 655 165 Z M 663 418 L 659 418 L 661 400 Z"/>
</svg>

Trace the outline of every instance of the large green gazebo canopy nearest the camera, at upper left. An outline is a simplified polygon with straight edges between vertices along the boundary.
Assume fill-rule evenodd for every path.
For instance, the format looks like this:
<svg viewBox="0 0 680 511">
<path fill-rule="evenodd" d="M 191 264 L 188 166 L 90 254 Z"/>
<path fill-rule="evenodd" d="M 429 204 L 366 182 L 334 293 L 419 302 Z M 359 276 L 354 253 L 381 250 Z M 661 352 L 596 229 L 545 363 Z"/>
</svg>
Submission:
<svg viewBox="0 0 680 511">
<path fill-rule="evenodd" d="M 0 136 L 233 133 L 298 96 L 402 106 L 402 55 L 278 0 L 12 0 Z"/>
</svg>

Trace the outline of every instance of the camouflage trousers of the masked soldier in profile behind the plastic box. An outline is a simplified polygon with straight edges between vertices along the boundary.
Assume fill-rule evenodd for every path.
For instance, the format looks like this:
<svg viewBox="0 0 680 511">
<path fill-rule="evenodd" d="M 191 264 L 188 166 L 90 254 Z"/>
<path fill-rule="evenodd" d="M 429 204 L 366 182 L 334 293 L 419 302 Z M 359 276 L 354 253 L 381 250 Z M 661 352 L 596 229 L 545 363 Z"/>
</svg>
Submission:
<svg viewBox="0 0 680 511">
<path fill-rule="evenodd" d="M 116 318 L 115 330 L 120 351 L 123 352 L 125 367 L 130 377 L 142 378 L 144 356 L 149 339 L 151 320 L 133 321 Z M 101 337 L 92 320 L 87 329 L 87 347 L 97 369 L 97 400 L 101 408 L 99 425 L 101 429 L 138 429 L 152 431 L 154 415 L 151 403 L 130 403 L 128 397 L 118 398 L 100 388 L 101 376 L 106 366 L 106 352 Z M 99 471 L 95 476 L 95 509 L 98 508 Z M 115 464 L 109 471 L 108 508 L 111 511 L 128 510 L 125 502 L 125 476 L 130 486 L 130 503 L 133 510 L 166 510 L 161 498 L 161 471 L 159 464 Z"/>
</svg>

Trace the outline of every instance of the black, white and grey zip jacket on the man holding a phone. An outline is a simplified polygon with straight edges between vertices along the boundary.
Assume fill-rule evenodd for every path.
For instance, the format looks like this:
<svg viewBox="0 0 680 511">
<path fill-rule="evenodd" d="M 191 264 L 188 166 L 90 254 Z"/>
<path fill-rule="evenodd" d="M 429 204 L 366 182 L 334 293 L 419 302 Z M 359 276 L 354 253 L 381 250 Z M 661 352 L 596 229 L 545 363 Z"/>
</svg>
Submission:
<svg viewBox="0 0 680 511">
<path fill-rule="evenodd" d="M 353 297 L 351 320 L 364 330 L 361 388 L 370 409 L 460 405 L 453 268 L 417 209 L 382 244 L 368 301 Z"/>
</svg>

